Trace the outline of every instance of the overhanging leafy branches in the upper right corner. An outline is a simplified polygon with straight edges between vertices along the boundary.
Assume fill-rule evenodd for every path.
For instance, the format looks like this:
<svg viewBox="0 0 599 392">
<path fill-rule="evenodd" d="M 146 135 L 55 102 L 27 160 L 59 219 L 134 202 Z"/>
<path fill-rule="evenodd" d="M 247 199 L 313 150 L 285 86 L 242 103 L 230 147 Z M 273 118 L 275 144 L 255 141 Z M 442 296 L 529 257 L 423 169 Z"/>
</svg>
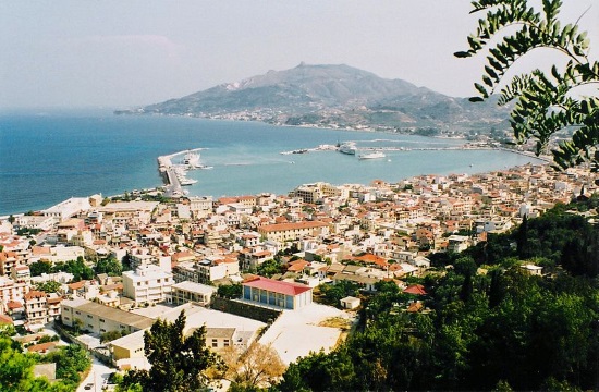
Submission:
<svg viewBox="0 0 599 392">
<path fill-rule="evenodd" d="M 510 123 L 518 143 L 536 139 L 536 152 L 540 154 L 555 133 L 575 128 L 571 139 L 551 151 L 555 168 L 591 161 L 597 171 L 599 98 L 577 97 L 576 93 L 580 86 L 599 83 L 599 62 L 589 59 L 590 42 L 586 32 L 578 32 L 577 22 L 561 26 L 558 20 L 561 5 L 560 0 L 543 0 L 542 12 L 537 12 L 526 0 L 473 1 L 472 13 L 487 11 L 487 14 L 468 36 L 469 49 L 455 56 L 467 58 L 489 49 L 482 84 L 475 83 L 479 96 L 470 100 L 488 99 L 504 85 L 499 105 L 516 100 Z M 514 33 L 501 36 L 514 28 Z M 505 83 L 515 62 L 538 48 L 560 52 L 567 60 L 565 68 L 559 70 L 553 65 L 550 74 L 537 69 Z"/>
</svg>

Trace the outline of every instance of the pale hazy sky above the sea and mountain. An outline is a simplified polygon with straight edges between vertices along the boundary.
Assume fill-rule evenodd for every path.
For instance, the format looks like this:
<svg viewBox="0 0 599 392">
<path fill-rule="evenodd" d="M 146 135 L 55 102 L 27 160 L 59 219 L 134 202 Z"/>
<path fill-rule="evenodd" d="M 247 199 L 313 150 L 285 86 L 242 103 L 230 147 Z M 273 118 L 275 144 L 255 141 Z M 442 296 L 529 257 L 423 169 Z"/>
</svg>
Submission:
<svg viewBox="0 0 599 392">
<path fill-rule="evenodd" d="M 597 59 L 599 1 L 564 3 L 564 22 L 590 7 L 579 24 Z M 453 58 L 476 27 L 469 10 L 467 0 L 1 1 L 0 107 L 154 103 L 302 61 L 470 96 L 484 57 Z"/>
</svg>

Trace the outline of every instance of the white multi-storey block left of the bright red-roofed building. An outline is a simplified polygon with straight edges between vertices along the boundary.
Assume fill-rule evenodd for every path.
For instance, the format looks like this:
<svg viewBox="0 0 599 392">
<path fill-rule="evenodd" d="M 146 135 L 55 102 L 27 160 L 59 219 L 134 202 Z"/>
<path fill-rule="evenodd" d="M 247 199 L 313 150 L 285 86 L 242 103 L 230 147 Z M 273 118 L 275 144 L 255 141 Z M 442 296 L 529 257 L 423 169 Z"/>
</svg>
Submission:
<svg viewBox="0 0 599 392">
<path fill-rule="evenodd" d="M 135 271 L 123 272 L 123 295 L 136 304 L 156 304 L 167 301 L 173 283 L 172 273 L 160 267 L 140 266 Z"/>
</svg>

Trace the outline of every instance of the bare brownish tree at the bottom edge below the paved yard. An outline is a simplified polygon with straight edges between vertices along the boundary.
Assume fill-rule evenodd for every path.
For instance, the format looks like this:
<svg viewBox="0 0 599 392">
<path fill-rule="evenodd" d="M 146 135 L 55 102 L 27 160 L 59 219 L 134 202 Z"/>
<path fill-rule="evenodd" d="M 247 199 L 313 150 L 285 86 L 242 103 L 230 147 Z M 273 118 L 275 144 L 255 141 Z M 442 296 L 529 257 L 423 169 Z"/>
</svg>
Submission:
<svg viewBox="0 0 599 392">
<path fill-rule="evenodd" d="M 270 345 L 252 343 L 243 354 L 233 346 L 221 354 L 227 371 L 224 378 L 245 389 L 267 388 L 285 371 L 285 365 Z"/>
</svg>

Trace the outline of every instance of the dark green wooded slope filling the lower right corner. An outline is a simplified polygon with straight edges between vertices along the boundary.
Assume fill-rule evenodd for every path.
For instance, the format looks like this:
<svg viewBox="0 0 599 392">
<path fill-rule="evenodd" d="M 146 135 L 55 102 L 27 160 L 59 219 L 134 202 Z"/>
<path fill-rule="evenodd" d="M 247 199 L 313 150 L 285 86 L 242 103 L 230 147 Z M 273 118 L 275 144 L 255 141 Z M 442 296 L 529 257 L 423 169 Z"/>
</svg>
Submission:
<svg viewBox="0 0 599 392">
<path fill-rule="evenodd" d="M 599 384 L 598 232 L 557 206 L 513 233 L 447 255 L 453 268 L 421 281 L 417 298 L 380 283 L 364 298 L 358 330 L 330 354 L 291 364 L 281 391 L 576 390 Z M 518 257 L 517 238 L 523 230 Z M 586 243 L 584 238 L 589 238 Z M 573 255 L 572 241 L 585 257 Z M 586 254 L 588 249 L 588 254 Z M 554 273 L 530 275 L 542 261 Z M 554 264 L 554 265 L 553 265 Z M 482 267 L 482 269 L 479 269 Z M 420 299 L 426 313 L 407 313 Z"/>
</svg>

